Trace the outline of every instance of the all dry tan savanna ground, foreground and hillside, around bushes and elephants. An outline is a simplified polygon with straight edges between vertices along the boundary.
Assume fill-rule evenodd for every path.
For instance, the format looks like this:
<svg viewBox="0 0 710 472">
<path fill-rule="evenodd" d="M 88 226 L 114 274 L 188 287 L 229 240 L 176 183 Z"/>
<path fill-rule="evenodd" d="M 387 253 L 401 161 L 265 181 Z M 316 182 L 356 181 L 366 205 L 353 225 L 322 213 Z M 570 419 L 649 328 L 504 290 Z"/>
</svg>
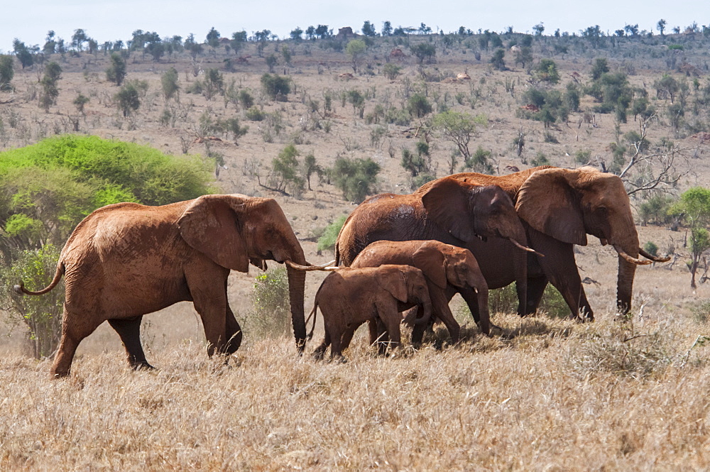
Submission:
<svg viewBox="0 0 710 472">
<path fill-rule="evenodd" d="M 285 102 L 261 91 L 260 77 L 268 69 L 256 43 L 240 53 L 251 58 L 231 70 L 224 67 L 225 59 L 234 54 L 222 50 L 195 60 L 183 53 L 160 62 L 132 53 L 126 79 L 145 81 L 147 89 L 138 111 L 128 117 L 116 107 L 119 88 L 105 77 L 106 55 L 63 60 L 54 55 L 63 72 L 58 103 L 49 113 L 38 107 L 38 67 L 17 66 L 14 92 L 0 93 L 0 150 L 77 132 L 176 155 L 217 155 L 224 159 L 220 190 L 275 197 L 307 260 L 324 263 L 332 254 L 317 251 L 315 235 L 354 206 L 325 178 L 313 177 L 312 190 L 300 195 L 259 185 L 267 182 L 271 160 L 288 144 L 295 144 L 300 159 L 314 153 L 324 167 L 338 157 L 372 158 L 382 169 L 378 191 L 406 193 L 414 182 L 400 165 L 403 149 L 413 150 L 427 139 L 435 177 L 452 170 L 455 154 L 455 146 L 438 133 L 422 135 L 425 119 L 406 111 L 415 94 L 425 95 L 434 113 L 485 115 L 488 124 L 477 128 L 470 150 L 479 145 L 490 150 L 489 163 L 501 174 L 512 170 L 508 166 L 528 168 L 542 157 L 552 165 L 576 167 L 578 151 L 586 152 L 592 165 L 611 163 L 610 143 L 640 130 L 633 116 L 616 123 L 613 114 L 594 113 L 594 100 L 584 94 L 579 111 L 571 111 L 564 123 L 545 128 L 519 116 L 530 74 L 514 63 L 509 50 L 509 70 L 493 70 L 488 62 L 493 48 L 481 50 L 476 40 L 442 48 L 443 39 L 433 37 L 437 62 L 420 66 L 406 45 L 395 43 L 401 38 L 378 38 L 361 67 L 366 72 L 354 77 L 341 77 L 351 71 L 344 53 L 313 41 L 289 43 L 293 60 L 277 67 L 292 79 L 293 92 Z M 688 126 L 674 129 L 667 113 L 670 100 L 656 97 L 652 84 L 668 72 L 687 82 L 686 98 L 695 103 L 707 79 L 700 77 L 694 88 L 693 78 L 675 68 L 682 62 L 679 50 L 653 42 L 682 42 L 683 60 L 706 70 L 706 47 L 694 47 L 699 40 L 667 35 L 649 39 L 643 49 L 637 48 L 645 40 L 597 50 L 572 38 L 569 52 L 553 52 L 555 40 L 545 37 L 536 40 L 533 53 L 535 60 L 554 58 L 560 91 L 572 81 L 591 84 L 595 57 L 608 57 L 613 71 L 628 72 L 633 87 L 645 88 L 658 111 L 648 127 L 651 152 L 667 139 L 691 156 L 677 160 L 682 177 L 669 189 L 677 193 L 708 185 L 707 141 L 695 136 L 707 110 L 689 108 Z M 282 45 L 269 43 L 264 55 Z M 390 58 L 395 47 L 406 57 Z M 387 62 L 402 67 L 398 77 L 383 74 Z M 165 100 L 161 75 L 170 67 L 178 70 L 180 94 Z M 191 92 L 212 68 L 220 68 L 226 87 L 251 93 L 266 119 L 250 121 L 243 107 L 219 94 L 207 99 Z M 453 81 L 459 72 L 471 80 Z M 364 97 L 364 115 L 347 101 L 353 91 Z M 72 104 L 78 94 L 90 99 L 83 113 Z M 368 121 L 378 105 L 401 121 Z M 204 140 L 202 117 L 236 117 L 249 131 L 238 143 L 212 129 L 207 134 L 221 141 Z M 513 141 L 520 132 L 525 148 L 518 155 Z M 459 156 L 453 170 L 460 168 Z M 633 206 L 643 198 L 633 197 Z M 299 358 L 290 336 L 260 338 L 252 326 L 268 325 L 268 320 L 250 318 L 253 273 L 233 274 L 229 281 L 229 300 L 245 341 L 227 364 L 207 358 L 202 326 L 189 304 L 143 320 L 143 344 L 156 371 L 130 371 L 118 336 L 104 325 L 80 346 L 70 378 L 51 380 L 51 361 L 26 356 L 24 333 L 15 326 L 0 344 L 0 471 L 709 470 L 709 351 L 703 337 L 710 336 L 710 307 L 704 302 L 710 298 L 709 284 L 689 288 L 684 230 L 643 226 L 638 231 L 642 245 L 652 241 L 661 253 L 673 248 L 678 258 L 674 265 L 638 268 L 635 306 L 626 321 L 612 314 L 616 255 L 590 237 L 589 246 L 577 248 L 576 258 L 581 277 L 592 281 L 585 290 L 596 322 L 497 314 L 493 322 L 503 332 L 487 338 L 471 326 L 470 317 L 459 314 L 467 325 L 457 346 L 444 342 L 437 350 L 447 339 L 439 329 L 420 351 L 407 347 L 391 358 L 376 357 L 363 334 L 345 352 L 346 364 Z M 307 308 L 323 277 L 307 276 Z M 316 336 L 321 334 L 317 329 Z"/>
</svg>

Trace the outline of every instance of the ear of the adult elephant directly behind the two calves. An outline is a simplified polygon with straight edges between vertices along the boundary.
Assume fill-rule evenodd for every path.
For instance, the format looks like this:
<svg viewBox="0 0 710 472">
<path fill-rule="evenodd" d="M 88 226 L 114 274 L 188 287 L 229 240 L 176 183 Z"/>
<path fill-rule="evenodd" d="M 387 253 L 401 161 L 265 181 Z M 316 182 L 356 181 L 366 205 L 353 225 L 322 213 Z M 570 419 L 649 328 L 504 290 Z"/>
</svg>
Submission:
<svg viewBox="0 0 710 472">
<path fill-rule="evenodd" d="M 466 242 L 476 237 L 470 192 L 471 185 L 443 177 L 422 195 L 422 204 L 432 221 L 454 238 Z"/>
</svg>

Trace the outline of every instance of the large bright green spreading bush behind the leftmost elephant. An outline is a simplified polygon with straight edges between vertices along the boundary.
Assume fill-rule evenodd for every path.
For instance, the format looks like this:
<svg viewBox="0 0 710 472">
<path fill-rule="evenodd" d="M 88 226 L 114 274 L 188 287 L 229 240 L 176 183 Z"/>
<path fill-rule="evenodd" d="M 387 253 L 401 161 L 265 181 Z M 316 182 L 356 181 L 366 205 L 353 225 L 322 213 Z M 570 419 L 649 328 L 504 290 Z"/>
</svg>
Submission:
<svg viewBox="0 0 710 472">
<path fill-rule="evenodd" d="M 0 153 L 0 251 L 62 245 L 98 207 L 161 205 L 212 192 L 212 163 L 97 136 L 57 136 Z M 8 229 L 13 235 L 5 234 Z"/>
</svg>

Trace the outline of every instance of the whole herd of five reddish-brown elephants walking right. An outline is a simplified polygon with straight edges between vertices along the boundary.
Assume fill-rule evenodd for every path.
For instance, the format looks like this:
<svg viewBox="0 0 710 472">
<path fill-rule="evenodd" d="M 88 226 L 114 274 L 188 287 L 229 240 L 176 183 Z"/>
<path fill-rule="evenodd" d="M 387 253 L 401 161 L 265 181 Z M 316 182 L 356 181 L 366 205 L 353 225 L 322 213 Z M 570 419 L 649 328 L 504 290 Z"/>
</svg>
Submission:
<svg viewBox="0 0 710 472">
<path fill-rule="evenodd" d="M 433 317 L 457 341 L 459 324 L 448 303 L 460 293 L 488 334 L 488 289 L 516 282 L 518 314 L 532 314 L 548 282 L 572 317 L 594 319 L 584 295 L 573 245 L 587 235 L 618 253 L 616 302 L 631 305 L 636 265 L 664 261 L 639 247 L 621 179 L 594 168 L 532 168 L 503 176 L 461 173 L 433 180 L 413 194 L 378 194 L 345 221 L 336 263 L 315 297 L 324 317 L 322 356 L 342 357 L 355 329 L 368 322 L 371 341 L 400 340 L 400 312 L 414 343 Z M 643 256 L 648 260 L 641 260 Z M 307 339 L 303 295 L 307 263 L 288 219 L 273 199 L 204 195 L 146 207 L 119 203 L 97 209 L 72 232 L 48 287 L 65 276 L 66 300 L 55 376 L 70 372 L 80 341 L 108 321 L 129 363 L 150 368 L 140 341 L 141 319 L 176 302 L 200 314 L 207 352 L 230 354 L 241 327 L 227 302 L 230 270 L 262 270 L 266 260 L 288 271 L 293 333 L 300 352 Z M 332 269 L 332 268 L 328 268 Z M 314 321 L 315 324 L 315 321 Z M 312 333 L 312 331 L 311 331 Z M 385 344 L 379 344 L 383 349 Z"/>
</svg>

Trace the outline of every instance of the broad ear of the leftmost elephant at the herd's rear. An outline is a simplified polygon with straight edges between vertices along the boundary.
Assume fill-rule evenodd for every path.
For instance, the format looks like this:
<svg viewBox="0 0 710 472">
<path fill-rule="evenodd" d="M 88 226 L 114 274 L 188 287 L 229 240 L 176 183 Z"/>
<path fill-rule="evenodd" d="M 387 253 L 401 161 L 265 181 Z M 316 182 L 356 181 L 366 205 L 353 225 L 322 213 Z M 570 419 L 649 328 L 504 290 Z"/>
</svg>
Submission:
<svg viewBox="0 0 710 472">
<path fill-rule="evenodd" d="M 202 195 L 178 219 L 180 236 L 224 268 L 247 272 L 249 256 L 241 237 L 234 206 L 239 199 L 229 195 Z"/>
</svg>

